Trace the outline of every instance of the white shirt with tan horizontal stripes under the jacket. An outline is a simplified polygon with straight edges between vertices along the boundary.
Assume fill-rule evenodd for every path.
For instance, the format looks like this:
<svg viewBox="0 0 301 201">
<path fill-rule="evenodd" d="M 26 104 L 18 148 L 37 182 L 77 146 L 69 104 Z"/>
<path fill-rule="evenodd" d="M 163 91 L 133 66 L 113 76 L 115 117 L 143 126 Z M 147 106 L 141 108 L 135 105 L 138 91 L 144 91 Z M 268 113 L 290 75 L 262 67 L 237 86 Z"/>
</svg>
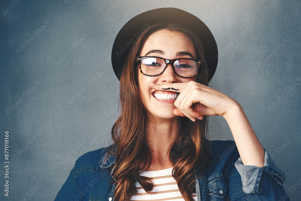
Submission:
<svg viewBox="0 0 301 201">
<path fill-rule="evenodd" d="M 145 171 L 140 175 L 150 177 L 154 183 L 154 188 L 150 193 L 146 193 L 139 182 L 136 182 L 137 194 L 131 197 L 131 200 L 145 201 L 185 201 L 175 179 L 172 177 L 172 167 L 164 170 Z M 197 200 L 196 193 L 192 194 L 194 200 Z"/>
</svg>

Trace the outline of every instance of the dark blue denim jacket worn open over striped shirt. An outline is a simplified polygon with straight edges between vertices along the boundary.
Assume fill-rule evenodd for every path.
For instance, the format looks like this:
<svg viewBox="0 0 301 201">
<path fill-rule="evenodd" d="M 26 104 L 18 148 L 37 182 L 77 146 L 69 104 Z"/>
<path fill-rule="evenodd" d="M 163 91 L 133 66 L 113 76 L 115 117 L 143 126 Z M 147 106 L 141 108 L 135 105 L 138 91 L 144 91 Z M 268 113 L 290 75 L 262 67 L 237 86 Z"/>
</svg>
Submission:
<svg viewBox="0 0 301 201">
<path fill-rule="evenodd" d="M 55 201 L 112 201 L 114 200 L 111 168 L 116 156 L 110 155 L 105 164 L 102 158 L 107 147 L 87 152 L 76 160 L 67 181 Z M 211 141 L 211 162 L 199 174 L 194 169 L 197 200 L 290 200 L 285 193 L 282 172 L 265 150 L 264 166 L 243 165 L 234 141 Z M 199 176 L 197 176 L 199 175 Z"/>
</svg>

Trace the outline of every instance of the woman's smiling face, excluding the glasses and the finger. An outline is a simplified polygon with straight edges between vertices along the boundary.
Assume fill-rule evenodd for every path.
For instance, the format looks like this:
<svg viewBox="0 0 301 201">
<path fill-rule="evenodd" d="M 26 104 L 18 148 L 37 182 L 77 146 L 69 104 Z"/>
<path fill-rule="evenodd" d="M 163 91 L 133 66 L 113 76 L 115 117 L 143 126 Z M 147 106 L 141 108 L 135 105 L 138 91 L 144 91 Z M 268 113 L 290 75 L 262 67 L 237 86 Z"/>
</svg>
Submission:
<svg viewBox="0 0 301 201">
<path fill-rule="evenodd" d="M 160 30 L 147 38 L 139 56 L 157 56 L 166 59 L 197 58 L 194 46 L 190 39 L 177 31 Z M 146 108 L 149 118 L 175 118 L 173 110 L 178 93 L 168 90 L 157 91 L 149 87 L 149 83 L 179 83 L 189 82 L 192 78 L 182 78 L 175 74 L 171 64 L 158 76 L 146 76 L 136 67 L 141 101 Z"/>
</svg>

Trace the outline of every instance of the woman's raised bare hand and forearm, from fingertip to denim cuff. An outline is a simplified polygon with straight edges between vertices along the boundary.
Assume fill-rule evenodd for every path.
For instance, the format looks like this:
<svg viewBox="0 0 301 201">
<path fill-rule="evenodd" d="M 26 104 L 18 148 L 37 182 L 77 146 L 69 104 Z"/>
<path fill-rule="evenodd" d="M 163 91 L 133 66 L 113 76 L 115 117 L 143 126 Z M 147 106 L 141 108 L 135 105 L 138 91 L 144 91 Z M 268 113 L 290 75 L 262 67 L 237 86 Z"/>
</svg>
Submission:
<svg viewBox="0 0 301 201">
<path fill-rule="evenodd" d="M 264 165 L 265 151 L 257 139 L 242 107 L 229 96 L 200 83 L 190 81 L 184 83 L 154 84 L 149 86 L 155 90 L 180 92 L 174 104 L 173 113 L 186 116 L 192 121 L 206 116 L 223 116 L 231 129 L 240 158 L 244 165 Z"/>
</svg>

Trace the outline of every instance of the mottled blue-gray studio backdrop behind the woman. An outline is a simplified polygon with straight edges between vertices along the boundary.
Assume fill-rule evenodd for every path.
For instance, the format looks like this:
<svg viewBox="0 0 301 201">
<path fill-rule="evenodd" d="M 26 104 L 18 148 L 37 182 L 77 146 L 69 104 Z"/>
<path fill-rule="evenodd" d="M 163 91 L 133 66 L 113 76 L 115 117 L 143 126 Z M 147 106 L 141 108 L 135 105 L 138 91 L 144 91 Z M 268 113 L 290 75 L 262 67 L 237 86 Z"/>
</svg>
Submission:
<svg viewBox="0 0 301 201">
<path fill-rule="evenodd" d="M 219 63 L 210 86 L 243 106 L 263 147 L 286 174 L 284 189 L 291 200 L 299 200 L 300 5 L 2 0 L 0 200 L 54 200 L 76 159 L 110 144 L 119 96 L 110 61 L 115 36 L 135 15 L 167 6 L 191 12 L 212 31 Z M 9 197 L 4 196 L 6 130 Z M 210 133 L 213 140 L 233 139 L 221 117 L 211 118 Z"/>
</svg>

